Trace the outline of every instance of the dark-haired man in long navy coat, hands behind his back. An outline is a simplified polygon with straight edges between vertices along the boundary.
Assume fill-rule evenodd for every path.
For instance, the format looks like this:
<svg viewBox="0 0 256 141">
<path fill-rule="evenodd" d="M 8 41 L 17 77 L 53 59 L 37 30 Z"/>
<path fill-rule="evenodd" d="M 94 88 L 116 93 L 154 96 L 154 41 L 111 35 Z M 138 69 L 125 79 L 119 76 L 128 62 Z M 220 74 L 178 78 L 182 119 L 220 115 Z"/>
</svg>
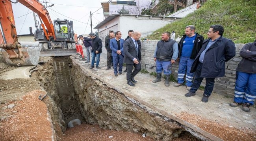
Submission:
<svg viewBox="0 0 256 141">
<path fill-rule="evenodd" d="M 236 55 L 236 47 L 232 40 L 223 37 L 224 28 L 221 25 L 211 25 L 207 32 L 208 39 L 204 40 L 202 48 L 197 54 L 190 72 L 195 72 L 195 80 L 186 97 L 195 96 L 202 80 L 206 85 L 202 102 L 208 98 L 214 87 L 214 80 L 225 74 L 225 62 Z"/>
</svg>

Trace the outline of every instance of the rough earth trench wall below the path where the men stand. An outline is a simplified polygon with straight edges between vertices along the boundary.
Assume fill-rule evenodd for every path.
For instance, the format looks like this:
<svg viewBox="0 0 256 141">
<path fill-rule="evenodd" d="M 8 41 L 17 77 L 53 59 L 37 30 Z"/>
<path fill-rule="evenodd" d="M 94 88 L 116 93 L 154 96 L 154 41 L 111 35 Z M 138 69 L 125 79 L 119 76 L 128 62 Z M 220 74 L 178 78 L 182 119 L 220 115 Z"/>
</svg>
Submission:
<svg viewBox="0 0 256 141">
<path fill-rule="evenodd" d="M 103 129 L 146 133 L 161 141 L 175 140 L 184 133 L 208 140 L 120 92 L 74 61 L 71 76 L 81 113 L 89 124 L 96 123 Z"/>
</svg>

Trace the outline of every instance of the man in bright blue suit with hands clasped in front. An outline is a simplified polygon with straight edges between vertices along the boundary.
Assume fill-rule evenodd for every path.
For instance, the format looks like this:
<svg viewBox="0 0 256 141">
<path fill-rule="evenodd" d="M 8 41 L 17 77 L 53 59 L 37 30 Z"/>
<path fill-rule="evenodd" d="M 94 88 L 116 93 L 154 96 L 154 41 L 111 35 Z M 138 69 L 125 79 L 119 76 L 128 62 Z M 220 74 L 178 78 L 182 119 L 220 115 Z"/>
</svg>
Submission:
<svg viewBox="0 0 256 141">
<path fill-rule="evenodd" d="M 115 32 L 115 38 L 110 40 L 110 49 L 112 50 L 112 57 L 113 57 L 113 67 L 114 67 L 114 74 L 115 76 L 118 74 L 122 74 L 122 64 L 124 60 L 124 53 L 123 53 L 123 44 L 124 39 L 121 39 L 122 33 L 120 31 Z M 119 65 L 117 71 L 117 65 Z"/>
</svg>

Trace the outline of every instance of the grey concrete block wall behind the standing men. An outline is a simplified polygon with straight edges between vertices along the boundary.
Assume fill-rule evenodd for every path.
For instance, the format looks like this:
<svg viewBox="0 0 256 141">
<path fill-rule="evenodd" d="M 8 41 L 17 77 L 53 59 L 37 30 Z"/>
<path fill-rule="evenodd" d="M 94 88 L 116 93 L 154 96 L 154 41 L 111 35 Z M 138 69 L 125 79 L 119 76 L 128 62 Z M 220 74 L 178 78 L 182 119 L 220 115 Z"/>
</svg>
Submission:
<svg viewBox="0 0 256 141">
<path fill-rule="evenodd" d="M 155 72 L 156 62 L 154 61 L 154 51 L 157 45 L 156 40 L 143 41 L 141 42 L 141 66 L 142 69 L 146 69 L 148 72 Z M 215 79 L 213 92 L 224 95 L 224 96 L 234 96 L 234 88 L 236 82 L 236 68 L 239 61 L 242 59 L 239 56 L 239 51 L 244 44 L 235 44 L 236 45 L 236 56 L 226 62 L 226 71 L 225 76 Z M 172 67 L 172 74 L 177 78 L 179 64 L 176 64 Z M 202 86 L 205 86 L 205 79 L 203 80 Z"/>
</svg>

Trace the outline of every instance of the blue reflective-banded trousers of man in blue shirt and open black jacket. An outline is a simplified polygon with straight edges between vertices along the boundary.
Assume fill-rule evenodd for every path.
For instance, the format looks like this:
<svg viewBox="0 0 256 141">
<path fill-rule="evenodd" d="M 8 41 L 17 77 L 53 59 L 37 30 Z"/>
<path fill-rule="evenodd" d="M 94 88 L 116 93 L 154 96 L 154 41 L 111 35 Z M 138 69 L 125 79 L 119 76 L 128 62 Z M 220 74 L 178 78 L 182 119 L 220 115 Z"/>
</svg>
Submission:
<svg viewBox="0 0 256 141">
<path fill-rule="evenodd" d="M 178 70 L 178 83 L 184 83 L 184 76 L 186 73 L 186 86 L 191 87 L 194 73 L 190 73 L 194 59 L 190 57 L 180 56 L 179 70 Z M 186 72 L 187 70 L 187 72 Z"/>
</svg>

